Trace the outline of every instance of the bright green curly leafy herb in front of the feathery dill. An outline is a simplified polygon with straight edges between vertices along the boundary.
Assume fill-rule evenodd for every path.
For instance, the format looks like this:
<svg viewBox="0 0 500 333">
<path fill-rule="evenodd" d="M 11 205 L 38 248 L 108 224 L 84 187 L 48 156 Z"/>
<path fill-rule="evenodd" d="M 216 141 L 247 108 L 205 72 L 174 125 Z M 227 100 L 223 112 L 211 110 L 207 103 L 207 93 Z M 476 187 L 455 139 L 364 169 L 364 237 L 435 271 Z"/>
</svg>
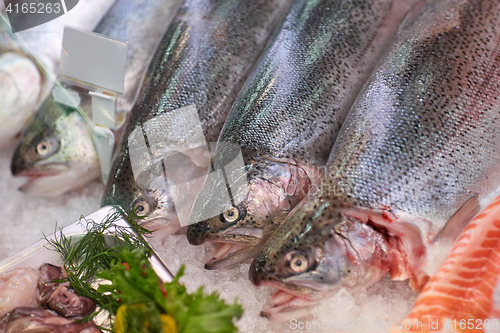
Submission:
<svg viewBox="0 0 500 333">
<path fill-rule="evenodd" d="M 241 305 L 236 301 L 226 305 L 217 293 L 205 295 L 202 287 L 194 294 L 188 294 L 186 287 L 179 284 L 184 266 L 172 282 L 161 283 L 145 259 L 143 249 L 124 250 L 119 257 L 111 269 L 98 274 L 98 277 L 112 282 L 111 285 L 100 285 L 98 292 L 110 292 L 116 300 L 107 309 L 109 311 L 116 313 L 121 306 L 126 306 L 127 313 L 129 309 L 135 310 L 133 315 L 127 316 L 127 332 L 142 332 L 145 322 L 152 327 L 161 326 L 159 319 L 150 319 L 160 318 L 160 314 L 173 317 L 179 333 L 229 333 L 237 330 L 232 319 L 241 318 Z"/>
</svg>

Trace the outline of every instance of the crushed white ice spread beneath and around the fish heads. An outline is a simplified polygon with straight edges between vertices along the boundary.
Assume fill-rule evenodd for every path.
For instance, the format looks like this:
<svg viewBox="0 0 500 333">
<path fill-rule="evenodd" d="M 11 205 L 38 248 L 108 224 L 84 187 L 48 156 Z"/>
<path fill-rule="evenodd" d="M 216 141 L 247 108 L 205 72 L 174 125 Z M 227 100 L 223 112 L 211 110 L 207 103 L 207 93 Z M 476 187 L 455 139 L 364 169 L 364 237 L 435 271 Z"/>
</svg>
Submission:
<svg viewBox="0 0 500 333">
<path fill-rule="evenodd" d="M 51 234 L 100 207 L 103 186 L 97 182 L 80 191 L 73 191 L 60 198 L 38 198 L 18 191 L 25 180 L 10 174 L 10 158 L 13 148 L 0 151 L 0 260 Z M 240 332 L 388 332 L 387 323 L 394 325 L 405 317 L 415 302 L 416 292 L 407 282 L 395 282 L 384 278 L 376 285 L 358 290 L 354 294 L 341 291 L 324 300 L 312 310 L 312 317 L 297 318 L 284 323 L 269 322 L 259 316 L 271 306 L 273 288 L 256 288 L 248 280 L 249 265 L 232 269 L 207 271 L 204 263 L 211 258 L 213 245 L 191 246 L 185 236 L 173 235 L 163 244 L 155 243 L 160 256 L 172 272 L 182 263 L 186 274 L 182 282 L 190 292 L 200 285 L 212 292 L 218 290 L 221 297 L 233 302 L 238 297 L 245 313 L 237 323 Z M 306 325 L 316 329 L 306 329 Z M 318 329 L 322 324 L 322 328 Z M 385 326 L 381 326 L 384 324 Z M 371 325 L 371 326 L 369 326 Z M 299 329 L 304 327 L 304 329 Z"/>
</svg>

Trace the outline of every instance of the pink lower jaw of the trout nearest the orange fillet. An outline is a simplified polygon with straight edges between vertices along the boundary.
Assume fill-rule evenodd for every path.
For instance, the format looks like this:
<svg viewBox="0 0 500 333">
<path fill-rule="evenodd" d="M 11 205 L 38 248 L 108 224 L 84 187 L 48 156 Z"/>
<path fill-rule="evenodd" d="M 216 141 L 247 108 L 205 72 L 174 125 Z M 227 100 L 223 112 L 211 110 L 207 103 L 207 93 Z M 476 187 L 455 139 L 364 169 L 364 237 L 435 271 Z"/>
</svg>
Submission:
<svg viewBox="0 0 500 333">
<path fill-rule="evenodd" d="M 310 287 L 300 287 L 302 291 L 290 289 L 275 282 L 268 286 L 278 289 L 271 297 L 272 306 L 262 310 L 261 317 L 270 321 L 286 321 L 311 315 L 312 306 L 318 304 L 326 295 Z M 304 292 L 304 289 L 307 292 Z"/>
</svg>

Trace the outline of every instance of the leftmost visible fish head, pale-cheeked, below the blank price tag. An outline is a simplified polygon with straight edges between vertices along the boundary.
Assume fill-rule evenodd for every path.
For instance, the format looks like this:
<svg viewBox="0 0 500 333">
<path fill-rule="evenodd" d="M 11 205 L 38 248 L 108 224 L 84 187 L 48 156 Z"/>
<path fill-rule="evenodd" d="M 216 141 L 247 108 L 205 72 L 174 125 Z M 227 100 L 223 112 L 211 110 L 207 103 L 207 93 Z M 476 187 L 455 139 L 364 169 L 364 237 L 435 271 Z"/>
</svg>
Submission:
<svg viewBox="0 0 500 333">
<path fill-rule="evenodd" d="M 100 172 L 90 126 L 49 96 L 24 130 L 11 171 L 28 177 L 20 190 L 35 195 L 56 196 L 85 185 Z"/>
</svg>

